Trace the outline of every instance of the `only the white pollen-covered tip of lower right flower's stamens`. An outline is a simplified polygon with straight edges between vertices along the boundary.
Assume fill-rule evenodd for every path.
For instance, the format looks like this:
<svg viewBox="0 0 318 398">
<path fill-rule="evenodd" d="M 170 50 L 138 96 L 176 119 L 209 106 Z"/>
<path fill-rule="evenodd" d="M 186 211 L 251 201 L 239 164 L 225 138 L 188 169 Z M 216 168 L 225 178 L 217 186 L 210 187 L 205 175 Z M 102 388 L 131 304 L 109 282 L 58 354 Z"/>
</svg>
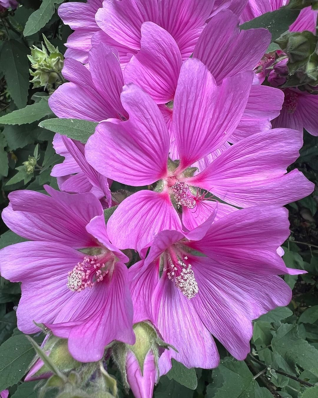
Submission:
<svg viewBox="0 0 318 398">
<path fill-rule="evenodd" d="M 187 259 L 185 257 L 184 259 Z M 178 261 L 178 266 L 181 267 L 181 272 L 176 276 L 176 271 L 178 267 L 172 265 L 172 269 L 167 273 L 168 278 L 175 281 L 176 287 L 186 298 L 193 298 L 199 291 L 198 283 L 194 276 L 191 264 L 185 264 L 183 261 Z"/>
</svg>

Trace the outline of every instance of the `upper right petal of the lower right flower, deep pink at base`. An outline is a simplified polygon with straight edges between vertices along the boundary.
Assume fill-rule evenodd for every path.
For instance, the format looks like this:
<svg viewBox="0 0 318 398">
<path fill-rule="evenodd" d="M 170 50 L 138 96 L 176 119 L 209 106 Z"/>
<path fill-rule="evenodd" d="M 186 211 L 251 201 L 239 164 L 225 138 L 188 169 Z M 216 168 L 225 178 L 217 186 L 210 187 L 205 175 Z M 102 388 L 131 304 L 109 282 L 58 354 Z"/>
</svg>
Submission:
<svg viewBox="0 0 318 398">
<path fill-rule="evenodd" d="M 262 275 L 289 270 L 276 250 L 289 236 L 288 212 L 264 205 L 235 211 L 211 224 L 206 236 L 190 242 L 194 248 L 228 269 L 244 268 Z"/>
</svg>

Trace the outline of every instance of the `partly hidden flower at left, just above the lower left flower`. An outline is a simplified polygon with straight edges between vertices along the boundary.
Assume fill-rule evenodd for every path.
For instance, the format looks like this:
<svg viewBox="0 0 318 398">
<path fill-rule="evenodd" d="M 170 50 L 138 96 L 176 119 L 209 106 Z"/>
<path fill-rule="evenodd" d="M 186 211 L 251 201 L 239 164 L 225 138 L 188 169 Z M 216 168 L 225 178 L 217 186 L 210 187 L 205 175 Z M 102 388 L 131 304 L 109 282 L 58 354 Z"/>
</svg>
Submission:
<svg viewBox="0 0 318 398">
<path fill-rule="evenodd" d="M 80 141 L 56 134 L 53 146 L 56 153 L 65 158 L 62 163 L 56 164 L 51 172 L 51 176 L 57 177 L 60 190 L 70 193 L 91 192 L 101 201 L 104 208 L 111 207 L 109 185 L 112 181 L 87 163 L 84 155 L 85 145 Z"/>
</svg>

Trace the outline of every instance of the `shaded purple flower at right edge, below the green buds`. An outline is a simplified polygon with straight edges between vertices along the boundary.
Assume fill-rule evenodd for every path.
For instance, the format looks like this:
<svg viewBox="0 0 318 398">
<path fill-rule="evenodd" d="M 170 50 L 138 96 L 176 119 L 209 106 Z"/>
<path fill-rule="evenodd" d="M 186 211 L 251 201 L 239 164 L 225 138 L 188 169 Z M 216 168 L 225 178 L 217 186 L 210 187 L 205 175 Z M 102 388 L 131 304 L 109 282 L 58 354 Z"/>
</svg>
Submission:
<svg viewBox="0 0 318 398">
<path fill-rule="evenodd" d="M 287 127 L 318 136 L 318 97 L 297 88 L 283 89 L 285 99 L 281 113 L 271 121 L 273 128 Z"/>
</svg>

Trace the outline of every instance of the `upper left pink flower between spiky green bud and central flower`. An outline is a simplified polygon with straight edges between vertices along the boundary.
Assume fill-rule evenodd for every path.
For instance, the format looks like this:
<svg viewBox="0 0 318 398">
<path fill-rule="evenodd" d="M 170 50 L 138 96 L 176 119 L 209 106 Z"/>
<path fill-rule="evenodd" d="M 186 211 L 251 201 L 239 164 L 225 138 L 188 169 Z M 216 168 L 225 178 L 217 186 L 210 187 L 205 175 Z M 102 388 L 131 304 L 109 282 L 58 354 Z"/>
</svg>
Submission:
<svg viewBox="0 0 318 398">
<path fill-rule="evenodd" d="M 57 117 L 95 122 L 127 118 L 120 102 L 124 80 L 116 50 L 101 43 L 89 51 L 88 60 L 89 69 L 74 59 L 65 60 L 62 73 L 70 83 L 50 96 L 52 111 Z"/>
</svg>

